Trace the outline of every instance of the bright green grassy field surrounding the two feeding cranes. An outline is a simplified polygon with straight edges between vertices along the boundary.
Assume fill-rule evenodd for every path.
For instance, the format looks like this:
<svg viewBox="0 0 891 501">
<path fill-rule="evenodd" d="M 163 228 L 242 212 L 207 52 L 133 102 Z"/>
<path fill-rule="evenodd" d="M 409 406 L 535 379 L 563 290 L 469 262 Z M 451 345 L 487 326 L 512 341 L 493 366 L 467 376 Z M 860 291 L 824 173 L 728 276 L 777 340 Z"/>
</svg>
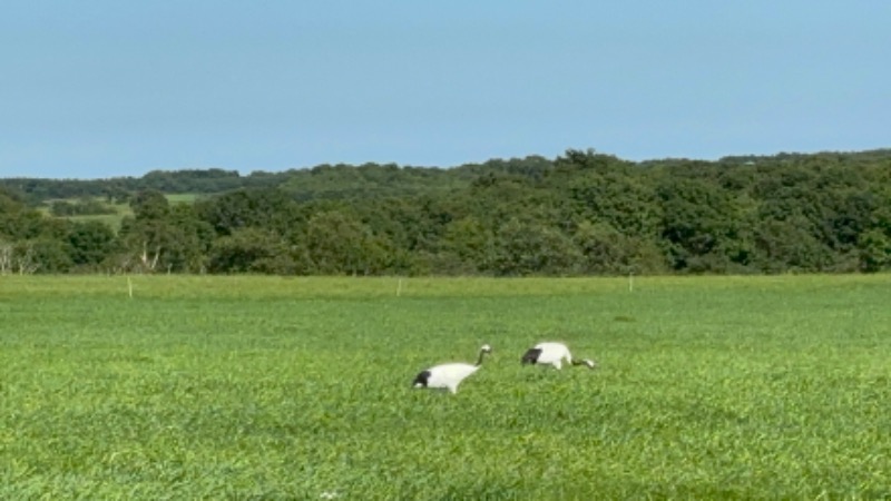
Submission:
<svg viewBox="0 0 891 501">
<path fill-rule="evenodd" d="M 889 276 L 131 284 L 0 277 L 0 499 L 891 497 Z"/>
</svg>

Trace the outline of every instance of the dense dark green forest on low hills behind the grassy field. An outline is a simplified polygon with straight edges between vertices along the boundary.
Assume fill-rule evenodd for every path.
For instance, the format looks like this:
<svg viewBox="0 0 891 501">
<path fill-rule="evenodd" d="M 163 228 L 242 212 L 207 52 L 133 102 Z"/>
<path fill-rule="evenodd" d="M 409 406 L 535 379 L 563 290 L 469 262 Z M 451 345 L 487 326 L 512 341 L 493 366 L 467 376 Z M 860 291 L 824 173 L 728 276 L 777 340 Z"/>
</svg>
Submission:
<svg viewBox="0 0 891 501">
<path fill-rule="evenodd" d="M 195 195 L 172 203 L 169 195 Z M 119 227 L 74 216 L 130 210 Z M 0 179 L 0 273 L 626 275 L 891 268 L 891 150 Z"/>
</svg>

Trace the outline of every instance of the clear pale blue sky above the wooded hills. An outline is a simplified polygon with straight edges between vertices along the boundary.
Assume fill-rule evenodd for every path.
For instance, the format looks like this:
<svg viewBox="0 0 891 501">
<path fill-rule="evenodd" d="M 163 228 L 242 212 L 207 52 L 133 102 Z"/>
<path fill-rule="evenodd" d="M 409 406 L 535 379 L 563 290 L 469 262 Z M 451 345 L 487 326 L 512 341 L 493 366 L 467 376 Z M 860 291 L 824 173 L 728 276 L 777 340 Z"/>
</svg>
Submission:
<svg viewBox="0 0 891 501">
<path fill-rule="evenodd" d="M 0 177 L 891 147 L 891 1 L 11 0 Z"/>
</svg>

